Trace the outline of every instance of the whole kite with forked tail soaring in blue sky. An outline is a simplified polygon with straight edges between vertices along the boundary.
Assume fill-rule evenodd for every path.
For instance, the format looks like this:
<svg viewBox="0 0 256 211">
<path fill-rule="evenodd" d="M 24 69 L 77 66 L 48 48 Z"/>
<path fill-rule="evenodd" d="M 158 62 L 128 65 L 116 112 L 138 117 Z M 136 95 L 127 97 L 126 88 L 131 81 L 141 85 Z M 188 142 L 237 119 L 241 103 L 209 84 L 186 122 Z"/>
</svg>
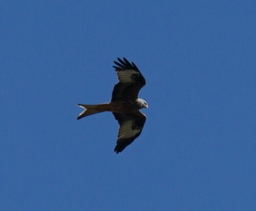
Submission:
<svg viewBox="0 0 256 211">
<path fill-rule="evenodd" d="M 147 108 L 147 103 L 138 98 L 140 89 L 146 84 L 138 67 L 125 58 L 123 60 L 117 59 L 119 62 L 114 61 L 117 66 L 113 67 L 117 72 L 118 83 L 114 86 L 111 102 L 98 105 L 77 104 L 84 109 L 77 120 L 99 112 L 113 112 L 120 126 L 117 145 L 114 150 L 119 153 L 140 135 L 146 121 L 146 115 L 139 110 Z"/>
</svg>

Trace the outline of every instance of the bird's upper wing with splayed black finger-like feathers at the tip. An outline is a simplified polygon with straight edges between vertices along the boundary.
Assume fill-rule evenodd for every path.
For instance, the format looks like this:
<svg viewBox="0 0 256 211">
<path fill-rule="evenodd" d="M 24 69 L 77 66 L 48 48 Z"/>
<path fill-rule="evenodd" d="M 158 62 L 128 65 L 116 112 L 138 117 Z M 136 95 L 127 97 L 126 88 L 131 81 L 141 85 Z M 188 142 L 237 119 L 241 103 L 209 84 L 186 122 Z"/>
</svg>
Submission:
<svg viewBox="0 0 256 211">
<path fill-rule="evenodd" d="M 119 82 L 114 87 L 111 101 L 136 100 L 140 89 L 146 84 L 146 81 L 133 62 L 130 63 L 125 58 L 123 60 L 117 59 L 120 63 L 114 61 L 117 66 L 113 67 L 116 69 Z"/>
</svg>

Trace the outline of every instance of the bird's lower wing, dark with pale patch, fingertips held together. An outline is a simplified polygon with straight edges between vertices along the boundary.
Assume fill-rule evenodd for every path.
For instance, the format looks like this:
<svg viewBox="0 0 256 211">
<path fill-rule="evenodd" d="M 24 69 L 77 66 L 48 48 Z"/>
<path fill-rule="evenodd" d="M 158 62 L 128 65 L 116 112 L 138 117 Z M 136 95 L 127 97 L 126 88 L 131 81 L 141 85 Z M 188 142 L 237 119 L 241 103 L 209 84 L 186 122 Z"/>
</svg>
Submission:
<svg viewBox="0 0 256 211">
<path fill-rule="evenodd" d="M 115 147 L 115 152 L 119 153 L 125 147 L 132 144 L 134 139 L 140 135 L 146 121 L 146 116 L 140 111 L 113 114 L 120 125 L 117 145 Z"/>
</svg>

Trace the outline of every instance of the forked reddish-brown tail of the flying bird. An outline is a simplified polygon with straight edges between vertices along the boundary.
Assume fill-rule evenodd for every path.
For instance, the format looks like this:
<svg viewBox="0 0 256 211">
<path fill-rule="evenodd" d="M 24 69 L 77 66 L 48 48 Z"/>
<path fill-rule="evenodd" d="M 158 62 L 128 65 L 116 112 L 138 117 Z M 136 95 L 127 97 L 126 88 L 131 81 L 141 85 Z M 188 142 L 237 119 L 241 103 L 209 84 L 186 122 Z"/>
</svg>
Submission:
<svg viewBox="0 0 256 211">
<path fill-rule="evenodd" d="M 80 120 L 85 116 L 110 110 L 109 103 L 98 104 L 98 105 L 84 105 L 84 104 L 77 104 L 77 105 L 84 109 L 83 112 L 79 113 L 77 120 Z"/>
</svg>

